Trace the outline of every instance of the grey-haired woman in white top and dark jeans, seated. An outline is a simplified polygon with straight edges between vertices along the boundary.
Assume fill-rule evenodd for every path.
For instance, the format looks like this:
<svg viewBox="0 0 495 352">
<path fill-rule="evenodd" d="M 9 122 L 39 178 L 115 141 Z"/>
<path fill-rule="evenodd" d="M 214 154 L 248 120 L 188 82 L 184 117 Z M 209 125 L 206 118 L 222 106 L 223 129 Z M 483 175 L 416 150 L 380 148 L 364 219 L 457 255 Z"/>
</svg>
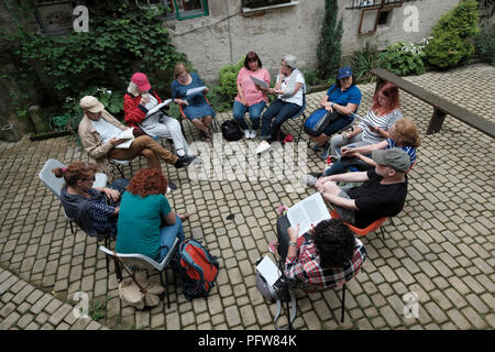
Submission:
<svg viewBox="0 0 495 352">
<path fill-rule="evenodd" d="M 284 136 L 279 134 L 282 123 L 299 112 L 302 107 L 302 95 L 306 91 L 305 77 L 296 67 L 296 57 L 287 55 L 282 59 L 275 88 L 261 86 L 256 88 L 265 94 L 277 96 L 277 99 L 263 113 L 260 139 L 263 144 L 267 143 L 266 140 L 283 141 Z"/>
</svg>

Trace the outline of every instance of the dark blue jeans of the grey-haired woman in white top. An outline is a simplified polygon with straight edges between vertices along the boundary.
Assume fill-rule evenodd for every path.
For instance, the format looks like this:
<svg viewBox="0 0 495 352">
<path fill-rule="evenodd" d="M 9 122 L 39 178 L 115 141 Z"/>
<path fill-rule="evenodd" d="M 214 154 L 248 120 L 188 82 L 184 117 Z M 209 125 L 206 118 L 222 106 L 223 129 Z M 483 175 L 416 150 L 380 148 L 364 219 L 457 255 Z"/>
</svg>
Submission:
<svg viewBox="0 0 495 352">
<path fill-rule="evenodd" d="M 290 119 L 299 112 L 300 106 L 294 102 L 285 102 L 276 99 L 262 117 L 262 131 L 260 139 L 272 141 L 278 140 L 278 131 L 280 131 L 282 123 Z M 275 119 L 275 120 L 274 120 Z M 274 120 L 272 122 L 272 120 Z"/>
</svg>

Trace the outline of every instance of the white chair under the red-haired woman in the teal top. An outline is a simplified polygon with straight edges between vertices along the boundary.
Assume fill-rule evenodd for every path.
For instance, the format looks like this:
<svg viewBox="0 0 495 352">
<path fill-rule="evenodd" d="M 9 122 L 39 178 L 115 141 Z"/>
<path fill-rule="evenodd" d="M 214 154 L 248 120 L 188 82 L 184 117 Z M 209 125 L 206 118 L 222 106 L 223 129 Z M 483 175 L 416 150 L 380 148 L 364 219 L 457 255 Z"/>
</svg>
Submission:
<svg viewBox="0 0 495 352">
<path fill-rule="evenodd" d="M 139 254 L 139 253 L 129 253 L 129 254 L 124 254 L 124 253 L 117 253 L 116 252 L 116 256 L 119 258 L 119 261 L 116 261 L 114 256 L 113 256 L 113 251 L 110 251 L 109 249 L 107 249 L 103 245 L 99 246 L 99 250 L 102 251 L 107 257 L 112 257 L 114 260 L 114 264 L 116 264 L 116 275 L 118 280 L 122 280 L 122 272 L 119 265 L 119 262 L 121 262 L 123 265 L 125 265 L 127 267 L 129 267 L 132 272 L 134 271 L 153 271 L 156 270 L 160 272 L 160 280 L 162 283 L 162 286 L 165 287 L 165 290 L 167 293 L 167 308 L 170 308 L 170 297 L 169 297 L 169 292 L 168 292 L 168 287 L 167 287 L 167 282 L 168 282 L 168 277 L 167 277 L 167 266 L 170 263 L 170 261 L 174 257 L 174 254 L 177 252 L 178 249 L 178 244 L 179 244 L 179 239 L 175 238 L 174 243 L 172 244 L 172 248 L 168 250 L 167 255 L 165 256 L 165 258 L 158 263 L 154 260 L 152 260 L 148 256 L 145 256 L 143 254 Z M 165 284 L 163 282 L 163 272 L 165 272 Z M 133 274 L 134 275 L 134 274 Z"/>
</svg>

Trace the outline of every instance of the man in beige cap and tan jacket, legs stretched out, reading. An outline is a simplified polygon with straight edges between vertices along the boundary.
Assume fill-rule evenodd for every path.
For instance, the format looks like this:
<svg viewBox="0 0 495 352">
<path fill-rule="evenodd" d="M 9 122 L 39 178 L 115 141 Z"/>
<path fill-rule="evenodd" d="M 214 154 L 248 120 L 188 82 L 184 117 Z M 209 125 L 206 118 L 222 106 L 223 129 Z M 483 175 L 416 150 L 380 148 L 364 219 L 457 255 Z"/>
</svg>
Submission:
<svg viewBox="0 0 495 352">
<path fill-rule="evenodd" d="M 80 99 L 80 108 L 85 112 L 79 123 L 79 139 L 89 157 L 94 158 L 98 166 L 106 173 L 109 173 L 107 158 L 119 161 L 132 160 L 138 155 L 146 157 L 148 166 L 162 170 L 160 158 L 165 163 L 174 165 L 176 168 L 187 166 L 187 157 L 178 157 L 172 152 L 163 148 L 148 135 L 142 135 L 134 139 L 129 148 L 116 148 L 117 145 L 124 142 L 117 136 L 129 128 L 113 118 L 103 105 L 92 96 L 86 96 Z"/>
</svg>

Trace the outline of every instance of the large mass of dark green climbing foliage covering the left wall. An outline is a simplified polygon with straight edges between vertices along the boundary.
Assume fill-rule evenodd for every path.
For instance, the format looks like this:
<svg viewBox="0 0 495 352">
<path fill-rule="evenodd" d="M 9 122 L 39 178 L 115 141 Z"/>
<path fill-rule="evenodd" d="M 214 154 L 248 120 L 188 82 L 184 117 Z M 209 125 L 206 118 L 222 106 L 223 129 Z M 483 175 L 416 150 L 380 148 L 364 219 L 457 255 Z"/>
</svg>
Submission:
<svg viewBox="0 0 495 352">
<path fill-rule="evenodd" d="M 146 73 L 154 89 L 169 94 L 174 66 L 186 56 L 172 45 L 156 12 L 122 3 L 98 10 L 90 8 L 88 33 L 56 37 L 26 30 L 0 33 L 0 65 L 14 62 L 18 69 L 9 78 L 22 87 L 35 87 L 43 105 L 57 106 L 64 112 L 68 110 L 66 97 L 78 98 L 96 86 L 119 92 L 99 97 L 109 111 L 120 111 L 134 72 Z M 77 100 L 72 102 L 77 105 Z"/>
</svg>

